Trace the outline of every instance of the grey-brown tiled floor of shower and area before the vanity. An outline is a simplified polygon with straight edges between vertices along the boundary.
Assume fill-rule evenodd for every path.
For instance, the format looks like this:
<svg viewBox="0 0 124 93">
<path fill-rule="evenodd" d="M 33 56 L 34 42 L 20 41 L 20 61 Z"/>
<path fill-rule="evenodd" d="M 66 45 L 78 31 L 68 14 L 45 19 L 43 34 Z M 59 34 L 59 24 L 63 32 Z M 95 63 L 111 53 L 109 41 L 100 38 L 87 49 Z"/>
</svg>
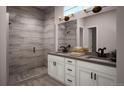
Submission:
<svg viewBox="0 0 124 93">
<path fill-rule="evenodd" d="M 36 67 L 26 72 L 12 74 L 9 86 L 63 86 L 47 74 L 46 67 Z"/>
</svg>

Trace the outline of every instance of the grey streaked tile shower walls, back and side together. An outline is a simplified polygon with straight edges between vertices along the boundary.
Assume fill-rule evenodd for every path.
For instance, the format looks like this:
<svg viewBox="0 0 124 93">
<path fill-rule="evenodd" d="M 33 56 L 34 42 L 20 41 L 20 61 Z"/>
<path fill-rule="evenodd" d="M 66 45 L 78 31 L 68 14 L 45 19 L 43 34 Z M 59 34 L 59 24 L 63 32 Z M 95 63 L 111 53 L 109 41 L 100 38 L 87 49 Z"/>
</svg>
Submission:
<svg viewBox="0 0 124 93">
<path fill-rule="evenodd" d="M 54 47 L 53 14 L 49 11 L 48 14 L 45 14 L 47 12 L 35 7 L 8 7 L 7 10 L 10 15 L 10 73 L 46 65 L 46 50 L 53 50 Z M 51 12 L 54 12 L 54 9 Z M 51 33 L 48 33 L 49 31 Z M 49 47 L 49 45 L 53 47 Z M 33 48 L 36 50 L 35 53 Z"/>
</svg>

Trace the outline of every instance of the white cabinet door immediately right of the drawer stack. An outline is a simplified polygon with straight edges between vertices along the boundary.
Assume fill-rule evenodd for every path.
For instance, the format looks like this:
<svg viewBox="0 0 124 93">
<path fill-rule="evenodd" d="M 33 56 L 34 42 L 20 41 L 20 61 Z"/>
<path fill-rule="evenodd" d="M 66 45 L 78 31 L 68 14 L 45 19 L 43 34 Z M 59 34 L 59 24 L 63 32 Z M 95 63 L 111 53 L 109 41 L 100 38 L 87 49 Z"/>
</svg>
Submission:
<svg viewBox="0 0 124 93">
<path fill-rule="evenodd" d="M 92 73 L 93 75 L 93 73 Z M 93 86 L 94 80 L 91 75 L 91 71 L 88 69 L 84 69 L 81 67 L 78 67 L 77 69 L 77 85 L 78 86 Z"/>
</svg>

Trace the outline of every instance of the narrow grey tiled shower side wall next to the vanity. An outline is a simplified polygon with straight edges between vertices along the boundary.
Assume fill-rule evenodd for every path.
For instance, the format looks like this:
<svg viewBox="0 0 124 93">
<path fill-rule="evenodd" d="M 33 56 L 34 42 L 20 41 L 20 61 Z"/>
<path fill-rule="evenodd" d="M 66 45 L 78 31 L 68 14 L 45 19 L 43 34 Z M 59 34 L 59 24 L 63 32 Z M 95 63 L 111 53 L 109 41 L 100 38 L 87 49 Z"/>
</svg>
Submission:
<svg viewBox="0 0 124 93">
<path fill-rule="evenodd" d="M 44 21 L 44 64 L 47 66 L 47 53 L 55 51 L 54 7 L 46 9 Z"/>
</svg>

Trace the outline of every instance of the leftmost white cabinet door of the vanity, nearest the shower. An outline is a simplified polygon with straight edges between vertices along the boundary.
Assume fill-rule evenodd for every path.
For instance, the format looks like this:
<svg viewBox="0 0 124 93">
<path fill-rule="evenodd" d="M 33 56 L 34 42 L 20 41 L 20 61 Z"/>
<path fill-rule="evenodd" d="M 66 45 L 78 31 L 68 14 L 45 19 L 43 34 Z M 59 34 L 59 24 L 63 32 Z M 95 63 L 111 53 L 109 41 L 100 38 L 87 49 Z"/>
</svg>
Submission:
<svg viewBox="0 0 124 93">
<path fill-rule="evenodd" d="M 48 61 L 48 74 L 52 76 L 53 78 L 56 78 L 56 62 L 52 59 L 49 59 Z"/>
</svg>

